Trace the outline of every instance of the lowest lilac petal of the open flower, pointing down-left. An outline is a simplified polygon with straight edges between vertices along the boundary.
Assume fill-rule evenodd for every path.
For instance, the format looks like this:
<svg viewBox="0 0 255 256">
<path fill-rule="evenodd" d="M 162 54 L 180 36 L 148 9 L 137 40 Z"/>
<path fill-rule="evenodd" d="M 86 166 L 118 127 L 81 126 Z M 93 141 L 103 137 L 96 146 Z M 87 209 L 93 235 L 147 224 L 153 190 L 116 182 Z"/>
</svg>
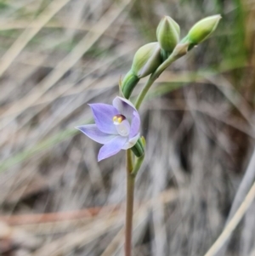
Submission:
<svg viewBox="0 0 255 256">
<path fill-rule="evenodd" d="M 111 139 L 111 141 L 100 148 L 98 161 L 116 155 L 116 153 L 122 150 L 122 146 L 125 145 L 126 142 L 127 137 L 116 136 L 114 139 Z"/>
</svg>

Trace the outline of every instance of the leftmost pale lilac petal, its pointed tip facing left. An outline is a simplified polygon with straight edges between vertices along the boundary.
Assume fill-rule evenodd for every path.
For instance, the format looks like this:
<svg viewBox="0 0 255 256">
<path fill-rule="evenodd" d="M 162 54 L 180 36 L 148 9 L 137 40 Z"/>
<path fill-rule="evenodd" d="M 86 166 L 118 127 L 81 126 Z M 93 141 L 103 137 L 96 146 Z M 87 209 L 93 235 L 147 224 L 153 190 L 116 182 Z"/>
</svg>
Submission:
<svg viewBox="0 0 255 256">
<path fill-rule="evenodd" d="M 95 124 L 81 125 L 76 128 L 100 144 L 106 144 L 116 137 L 116 135 L 102 133 Z"/>
</svg>

